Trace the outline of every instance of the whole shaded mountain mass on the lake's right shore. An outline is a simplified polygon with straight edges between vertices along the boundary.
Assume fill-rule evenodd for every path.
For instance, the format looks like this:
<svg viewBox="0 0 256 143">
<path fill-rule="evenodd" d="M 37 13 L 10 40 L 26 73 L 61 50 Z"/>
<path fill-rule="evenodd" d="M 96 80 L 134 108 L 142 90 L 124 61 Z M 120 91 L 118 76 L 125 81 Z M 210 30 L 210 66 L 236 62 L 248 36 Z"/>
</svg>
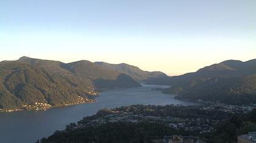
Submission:
<svg viewBox="0 0 256 143">
<path fill-rule="evenodd" d="M 194 73 L 167 78 L 163 83 L 172 85 L 163 92 L 177 94 L 177 99 L 256 103 L 256 59 L 224 61 Z"/>
</svg>

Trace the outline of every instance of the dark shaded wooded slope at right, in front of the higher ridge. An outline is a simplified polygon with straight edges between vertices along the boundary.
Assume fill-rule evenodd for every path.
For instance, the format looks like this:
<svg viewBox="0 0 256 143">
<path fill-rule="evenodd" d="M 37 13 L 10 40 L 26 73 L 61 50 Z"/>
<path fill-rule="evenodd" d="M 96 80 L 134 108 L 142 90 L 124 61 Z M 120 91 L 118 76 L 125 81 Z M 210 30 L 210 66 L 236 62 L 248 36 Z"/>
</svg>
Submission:
<svg viewBox="0 0 256 143">
<path fill-rule="evenodd" d="M 227 104 L 256 103 L 256 76 L 211 78 L 176 96 L 178 99 L 201 99 Z"/>
</svg>

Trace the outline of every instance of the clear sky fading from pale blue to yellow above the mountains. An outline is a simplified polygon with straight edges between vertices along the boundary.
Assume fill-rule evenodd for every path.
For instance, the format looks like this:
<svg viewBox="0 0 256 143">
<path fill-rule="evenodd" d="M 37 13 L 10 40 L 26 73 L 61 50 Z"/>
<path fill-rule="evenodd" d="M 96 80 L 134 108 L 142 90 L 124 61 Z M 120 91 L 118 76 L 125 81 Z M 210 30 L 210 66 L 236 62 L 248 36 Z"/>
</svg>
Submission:
<svg viewBox="0 0 256 143">
<path fill-rule="evenodd" d="M 168 75 L 247 61 L 256 58 L 256 1 L 0 1 L 0 61 L 21 56 Z"/>
</svg>

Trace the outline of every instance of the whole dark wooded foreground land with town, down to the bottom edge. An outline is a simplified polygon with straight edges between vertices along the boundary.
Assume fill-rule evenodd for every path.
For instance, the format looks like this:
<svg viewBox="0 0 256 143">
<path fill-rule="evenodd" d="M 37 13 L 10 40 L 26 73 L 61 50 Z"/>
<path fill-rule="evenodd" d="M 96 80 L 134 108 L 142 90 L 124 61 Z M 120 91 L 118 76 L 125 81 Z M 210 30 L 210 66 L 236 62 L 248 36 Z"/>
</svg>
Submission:
<svg viewBox="0 0 256 143">
<path fill-rule="evenodd" d="M 76 123 L 66 125 L 56 136 L 70 134 L 91 138 L 91 131 L 97 136 L 131 134 L 135 139 L 148 142 L 229 142 L 243 143 L 255 135 L 256 110 L 253 106 L 225 104 L 204 105 L 130 105 L 117 108 L 103 108 L 96 115 L 84 117 Z M 110 130 L 105 133 L 105 130 Z M 119 133 L 121 132 L 121 133 Z M 136 133 L 135 133 L 136 132 Z M 248 134 L 247 134 L 248 133 Z M 88 135 L 87 135 L 88 134 Z M 104 134 L 104 135 L 102 135 Z M 86 136 L 86 137 L 84 137 Z M 223 137 L 224 136 L 224 137 Z M 219 138 L 221 137 L 221 138 Z M 113 137 L 111 137 L 113 138 Z M 98 137 L 96 138 L 98 139 Z M 42 139 L 42 141 L 46 141 Z M 242 142 L 241 142 L 242 141 Z"/>
</svg>

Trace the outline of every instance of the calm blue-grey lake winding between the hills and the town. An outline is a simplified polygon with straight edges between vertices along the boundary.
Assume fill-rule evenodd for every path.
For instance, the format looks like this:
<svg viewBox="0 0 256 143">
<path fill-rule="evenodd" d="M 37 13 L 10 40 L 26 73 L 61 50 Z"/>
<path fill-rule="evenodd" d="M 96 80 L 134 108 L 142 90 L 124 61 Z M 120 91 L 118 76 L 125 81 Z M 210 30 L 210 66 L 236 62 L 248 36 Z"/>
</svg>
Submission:
<svg viewBox="0 0 256 143">
<path fill-rule="evenodd" d="M 94 115 L 101 108 L 114 108 L 132 104 L 182 104 L 198 105 L 195 102 L 180 101 L 173 95 L 165 95 L 151 88 L 163 85 L 143 85 L 140 88 L 108 90 L 101 93 L 98 102 L 68 107 L 51 108 L 46 111 L 16 111 L 0 113 L 0 142 L 29 143 L 63 130 L 70 122 L 77 122 L 84 116 Z"/>
</svg>

